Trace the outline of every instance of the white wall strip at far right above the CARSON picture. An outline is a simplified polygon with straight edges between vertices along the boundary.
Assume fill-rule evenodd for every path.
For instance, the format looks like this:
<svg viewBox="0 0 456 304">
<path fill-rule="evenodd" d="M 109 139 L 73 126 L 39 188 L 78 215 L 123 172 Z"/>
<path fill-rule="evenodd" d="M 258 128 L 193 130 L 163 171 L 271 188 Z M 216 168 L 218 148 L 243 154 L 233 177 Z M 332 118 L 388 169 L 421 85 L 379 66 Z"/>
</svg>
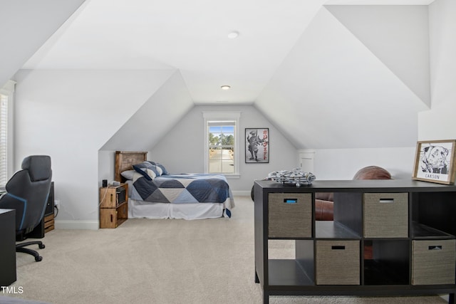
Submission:
<svg viewBox="0 0 456 304">
<path fill-rule="evenodd" d="M 456 1 L 430 4 L 431 110 L 418 115 L 419 140 L 456 139 Z"/>
</svg>

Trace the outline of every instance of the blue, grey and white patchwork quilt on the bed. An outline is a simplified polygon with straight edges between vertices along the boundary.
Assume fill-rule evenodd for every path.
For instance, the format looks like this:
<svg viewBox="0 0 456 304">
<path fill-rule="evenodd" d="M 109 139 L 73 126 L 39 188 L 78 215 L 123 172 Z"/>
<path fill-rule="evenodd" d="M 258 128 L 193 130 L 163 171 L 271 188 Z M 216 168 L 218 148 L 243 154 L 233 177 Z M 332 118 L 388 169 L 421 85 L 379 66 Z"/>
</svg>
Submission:
<svg viewBox="0 0 456 304">
<path fill-rule="evenodd" d="M 136 176 L 130 198 L 145 204 L 224 203 L 229 217 L 234 206 L 226 177 L 215 174 L 166 174 L 153 179 Z"/>
</svg>

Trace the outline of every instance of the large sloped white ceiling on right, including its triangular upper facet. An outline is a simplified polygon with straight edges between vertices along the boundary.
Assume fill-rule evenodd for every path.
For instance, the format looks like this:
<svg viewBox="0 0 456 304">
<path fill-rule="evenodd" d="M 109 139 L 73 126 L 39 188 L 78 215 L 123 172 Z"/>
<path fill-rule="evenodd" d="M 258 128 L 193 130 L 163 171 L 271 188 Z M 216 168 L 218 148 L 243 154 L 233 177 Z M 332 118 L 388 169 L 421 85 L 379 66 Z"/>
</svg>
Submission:
<svg viewBox="0 0 456 304">
<path fill-rule="evenodd" d="M 428 50 L 427 6 L 325 6 L 255 105 L 300 149 L 413 147 Z"/>
</svg>

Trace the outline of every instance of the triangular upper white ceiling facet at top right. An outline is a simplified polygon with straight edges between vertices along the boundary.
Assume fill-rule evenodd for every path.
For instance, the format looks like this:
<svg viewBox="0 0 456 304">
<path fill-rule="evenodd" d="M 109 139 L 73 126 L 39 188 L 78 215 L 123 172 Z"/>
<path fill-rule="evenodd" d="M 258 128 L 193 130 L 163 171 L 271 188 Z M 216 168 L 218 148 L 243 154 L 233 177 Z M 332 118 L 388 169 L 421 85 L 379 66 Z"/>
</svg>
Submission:
<svg viewBox="0 0 456 304">
<path fill-rule="evenodd" d="M 348 31 L 430 105 L 427 6 L 325 6 Z"/>
</svg>

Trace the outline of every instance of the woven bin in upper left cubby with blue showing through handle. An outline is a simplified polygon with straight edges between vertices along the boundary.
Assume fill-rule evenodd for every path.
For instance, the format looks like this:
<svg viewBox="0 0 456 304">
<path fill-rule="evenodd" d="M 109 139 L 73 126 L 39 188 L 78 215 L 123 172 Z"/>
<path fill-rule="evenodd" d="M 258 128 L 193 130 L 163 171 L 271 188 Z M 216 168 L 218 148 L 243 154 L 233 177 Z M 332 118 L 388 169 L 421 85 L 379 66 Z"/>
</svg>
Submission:
<svg viewBox="0 0 456 304">
<path fill-rule="evenodd" d="M 312 236 L 312 194 L 270 193 L 268 206 L 269 237 Z"/>
</svg>

